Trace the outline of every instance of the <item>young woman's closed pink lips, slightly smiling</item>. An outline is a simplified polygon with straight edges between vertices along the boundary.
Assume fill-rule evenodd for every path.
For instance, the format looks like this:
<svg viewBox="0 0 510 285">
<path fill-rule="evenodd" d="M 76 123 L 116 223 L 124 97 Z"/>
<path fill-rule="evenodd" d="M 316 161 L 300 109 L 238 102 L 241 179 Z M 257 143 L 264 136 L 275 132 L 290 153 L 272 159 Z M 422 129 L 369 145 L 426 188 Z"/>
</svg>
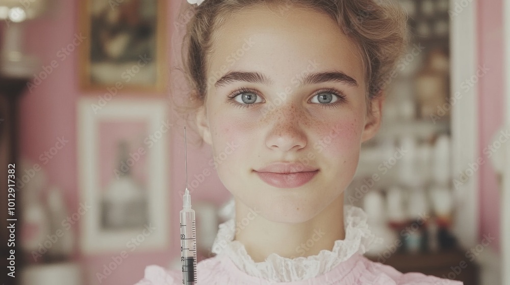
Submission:
<svg viewBox="0 0 510 285">
<path fill-rule="evenodd" d="M 319 169 L 301 163 L 273 163 L 254 171 L 268 185 L 296 188 L 312 180 Z"/>
</svg>

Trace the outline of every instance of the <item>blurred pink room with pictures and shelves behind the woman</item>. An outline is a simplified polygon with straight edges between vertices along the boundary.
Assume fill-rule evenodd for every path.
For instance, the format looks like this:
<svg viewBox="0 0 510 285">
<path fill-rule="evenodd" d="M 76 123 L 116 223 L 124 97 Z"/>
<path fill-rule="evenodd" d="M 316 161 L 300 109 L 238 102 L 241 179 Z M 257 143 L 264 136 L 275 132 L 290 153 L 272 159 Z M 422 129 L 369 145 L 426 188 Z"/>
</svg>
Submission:
<svg viewBox="0 0 510 285">
<path fill-rule="evenodd" d="M 168 78 L 184 2 L 0 0 L 5 284 L 134 284 L 147 265 L 179 269 L 184 123 Z M 345 203 L 381 237 L 374 261 L 510 284 L 510 3 L 399 2 L 409 49 Z M 222 159 L 188 140 L 199 260 L 230 217 Z"/>
</svg>

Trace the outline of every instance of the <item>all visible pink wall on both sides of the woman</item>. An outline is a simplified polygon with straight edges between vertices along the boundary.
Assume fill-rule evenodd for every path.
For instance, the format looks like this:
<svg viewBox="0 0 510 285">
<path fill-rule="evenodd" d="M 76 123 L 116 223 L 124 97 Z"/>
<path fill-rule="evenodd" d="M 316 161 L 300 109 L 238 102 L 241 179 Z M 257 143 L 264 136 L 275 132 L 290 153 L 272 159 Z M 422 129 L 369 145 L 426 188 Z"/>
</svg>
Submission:
<svg viewBox="0 0 510 285">
<path fill-rule="evenodd" d="M 70 205 L 71 213 L 77 210 L 80 203 L 78 176 L 77 176 L 77 130 L 76 130 L 76 104 L 80 96 L 97 96 L 98 94 L 82 94 L 78 90 L 77 70 L 78 55 L 74 51 L 64 61 L 57 58 L 57 52 L 72 42 L 74 34 L 78 31 L 77 15 L 79 13 L 77 2 L 60 1 L 58 11 L 51 17 L 46 17 L 28 24 L 26 46 L 29 52 L 36 54 L 42 60 L 41 65 L 49 65 L 52 60 L 58 60 L 59 66 L 49 74 L 31 93 L 24 96 L 21 102 L 21 153 L 34 162 L 39 162 L 39 156 L 54 146 L 57 137 L 64 136 L 69 143 L 59 151 L 54 158 L 43 165 L 48 174 L 48 182 L 57 185 L 65 191 L 65 197 Z M 174 31 L 173 13 L 177 11 L 179 1 L 171 1 L 172 7 L 168 13 L 168 31 Z M 502 15 L 501 0 L 478 3 L 478 39 L 479 63 L 491 68 L 490 76 L 483 77 L 479 83 L 480 101 L 480 155 L 483 146 L 489 142 L 491 135 L 502 122 L 502 90 L 501 77 L 502 63 Z M 147 94 L 139 94 L 140 97 Z M 143 276 L 143 269 L 148 264 L 166 266 L 170 259 L 177 254 L 179 247 L 178 237 L 181 198 L 177 192 L 182 188 L 184 181 L 184 168 L 182 165 L 183 142 L 179 134 L 181 128 L 172 129 L 171 163 L 173 179 L 169 185 L 171 192 L 169 205 L 171 207 L 172 239 L 169 248 L 161 251 L 139 252 L 131 255 L 121 266 L 114 271 L 101 284 L 132 284 Z M 209 149 L 188 151 L 190 174 L 201 173 L 204 168 L 210 168 Z M 214 172 L 213 172 L 214 173 Z M 480 236 L 491 233 L 499 236 L 499 193 L 493 170 L 489 164 L 484 164 L 480 175 Z M 225 200 L 228 193 L 223 188 L 216 174 L 207 177 L 194 192 L 195 200 L 208 200 L 216 204 Z M 79 226 L 72 228 L 79 234 Z M 499 241 L 496 246 L 499 248 Z M 104 264 L 111 261 L 116 255 L 101 254 L 83 256 L 77 246 L 74 254 L 76 260 L 82 260 L 87 268 L 87 275 L 92 284 L 97 283 L 95 273 L 101 271 Z"/>
</svg>

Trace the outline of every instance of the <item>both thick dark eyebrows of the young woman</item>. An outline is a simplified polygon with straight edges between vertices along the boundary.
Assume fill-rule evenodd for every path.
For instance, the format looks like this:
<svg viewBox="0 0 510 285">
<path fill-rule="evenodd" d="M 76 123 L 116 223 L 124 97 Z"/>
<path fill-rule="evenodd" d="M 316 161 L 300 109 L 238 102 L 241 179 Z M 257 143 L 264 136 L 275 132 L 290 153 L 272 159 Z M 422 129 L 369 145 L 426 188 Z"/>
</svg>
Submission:
<svg viewBox="0 0 510 285">
<path fill-rule="evenodd" d="M 214 86 L 218 88 L 235 81 L 260 83 L 268 86 L 273 83 L 271 79 L 260 72 L 230 71 L 218 79 L 218 81 L 214 83 Z M 342 71 L 335 70 L 309 73 L 299 80 L 299 87 L 303 87 L 307 84 L 318 84 L 324 82 L 340 82 L 352 87 L 359 86 L 358 81 L 356 81 L 354 78 L 350 77 Z"/>
</svg>

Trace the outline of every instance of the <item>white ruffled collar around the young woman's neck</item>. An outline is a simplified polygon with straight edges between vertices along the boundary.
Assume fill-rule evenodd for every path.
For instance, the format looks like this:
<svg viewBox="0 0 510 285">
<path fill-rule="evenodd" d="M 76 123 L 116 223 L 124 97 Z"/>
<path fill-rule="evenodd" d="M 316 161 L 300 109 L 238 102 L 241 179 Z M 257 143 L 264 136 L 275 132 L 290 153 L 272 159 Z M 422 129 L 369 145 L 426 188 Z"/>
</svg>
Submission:
<svg viewBox="0 0 510 285">
<path fill-rule="evenodd" d="M 240 241 L 234 241 L 235 219 L 219 225 L 212 251 L 227 255 L 246 274 L 278 282 L 300 281 L 324 274 L 356 253 L 365 253 L 375 241 L 367 215 L 358 207 L 344 206 L 345 239 L 335 241 L 333 250 L 321 250 L 310 257 L 288 259 L 271 253 L 266 261 L 254 262 Z"/>
</svg>

